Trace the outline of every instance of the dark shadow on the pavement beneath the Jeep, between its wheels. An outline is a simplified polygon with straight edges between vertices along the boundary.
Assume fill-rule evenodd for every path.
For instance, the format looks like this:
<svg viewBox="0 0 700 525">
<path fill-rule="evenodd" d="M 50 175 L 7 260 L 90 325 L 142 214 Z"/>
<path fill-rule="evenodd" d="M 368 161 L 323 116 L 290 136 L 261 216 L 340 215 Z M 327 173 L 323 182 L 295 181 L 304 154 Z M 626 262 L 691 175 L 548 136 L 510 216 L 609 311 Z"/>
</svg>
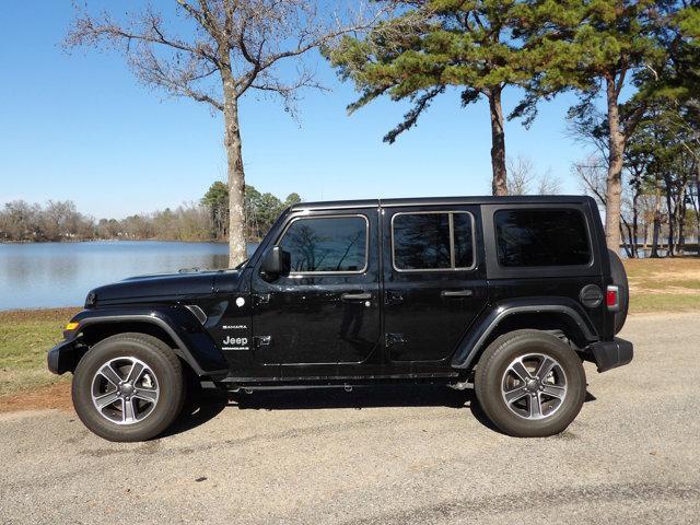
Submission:
<svg viewBox="0 0 700 525">
<path fill-rule="evenodd" d="M 585 402 L 596 398 L 586 392 Z M 377 385 L 342 388 L 243 390 L 226 393 L 195 389 L 178 419 L 159 438 L 187 432 L 217 417 L 224 408 L 238 410 L 317 410 L 328 408 L 447 407 L 468 409 L 474 418 L 502 433 L 479 406 L 472 389 L 457 390 L 443 385 Z"/>
</svg>

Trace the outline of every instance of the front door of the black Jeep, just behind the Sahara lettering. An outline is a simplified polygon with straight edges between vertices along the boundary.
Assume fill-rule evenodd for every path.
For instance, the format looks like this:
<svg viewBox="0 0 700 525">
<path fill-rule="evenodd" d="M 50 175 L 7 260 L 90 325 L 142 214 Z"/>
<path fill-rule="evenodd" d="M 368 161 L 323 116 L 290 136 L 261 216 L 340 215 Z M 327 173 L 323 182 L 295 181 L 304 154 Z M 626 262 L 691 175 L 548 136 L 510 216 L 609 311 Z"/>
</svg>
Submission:
<svg viewBox="0 0 700 525">
<path fill-rule="evenodd" d="M 275 244 L 290 253 L 291 271 L 254 271 L 256 362 L 303 377 L 370 358 L 381 340 L 376 208 L 293 213 Z"/>
</svg>

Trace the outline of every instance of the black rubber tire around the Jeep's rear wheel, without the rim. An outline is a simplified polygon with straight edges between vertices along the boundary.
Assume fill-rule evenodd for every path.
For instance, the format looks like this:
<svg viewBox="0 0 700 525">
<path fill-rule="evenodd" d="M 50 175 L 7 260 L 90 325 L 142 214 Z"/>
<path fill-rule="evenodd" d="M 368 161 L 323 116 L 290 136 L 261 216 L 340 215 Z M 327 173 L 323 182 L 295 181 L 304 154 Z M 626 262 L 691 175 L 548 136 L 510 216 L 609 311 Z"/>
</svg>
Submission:
<svg viewBox="0 0 700 525">
<path fill-rule="evenodd" d="M 528 353 L 553 358 L 567 376 L 562 405 L 551 417 L 541 420 L 527 420 L 513 413 L 501 392 L 508 366 Z M 501 336 L 487 349 L 479 360 L 475 387 L 481 408 L 500 430 L 509 435 L 538 438 L 558 434 L 574 420 L 585 399 L 586 378 L 581 360 L 563 341 L 536 330 L 518 330 Z"/>
</svg>

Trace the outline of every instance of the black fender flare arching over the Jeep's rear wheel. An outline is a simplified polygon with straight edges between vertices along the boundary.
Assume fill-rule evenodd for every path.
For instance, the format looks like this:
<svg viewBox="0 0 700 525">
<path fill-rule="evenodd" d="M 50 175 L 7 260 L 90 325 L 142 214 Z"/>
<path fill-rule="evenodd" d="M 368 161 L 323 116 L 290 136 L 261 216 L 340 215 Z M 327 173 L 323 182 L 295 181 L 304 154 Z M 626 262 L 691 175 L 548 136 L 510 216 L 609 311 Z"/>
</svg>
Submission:
<svg viewBox="0 0 700 525">
<path fill-rule="evenodd" d="M 489 336 L 508 317 L 518 314 L 547 313 L 565 315 L 586 341 L 593 342 L 599 339 L 595 326 L 590 322 L 581 305 L 569 298 L 526 298 L 500 301 L 487 308 L 465 334 L 452 358 L 452 366 L 469 369 L 474 364 L 475 358 L 483 349 Z"/>
</svg>

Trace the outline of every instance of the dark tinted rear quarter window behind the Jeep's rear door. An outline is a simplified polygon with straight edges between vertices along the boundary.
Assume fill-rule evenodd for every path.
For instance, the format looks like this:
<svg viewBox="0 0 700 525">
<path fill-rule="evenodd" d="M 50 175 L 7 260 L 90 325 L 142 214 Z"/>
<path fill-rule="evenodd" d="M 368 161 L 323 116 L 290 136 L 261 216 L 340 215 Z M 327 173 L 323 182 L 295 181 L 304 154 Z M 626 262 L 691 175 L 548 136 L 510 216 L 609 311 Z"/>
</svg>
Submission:
<svg viewBox="0 0 700 525">
<path fill-rule="evenodd" d="M 591 262 L 588 230 L 579 210 L 499 210 L 493 214 L 493 223 L 500 266 L 581 266 Z"/>
</svg>

